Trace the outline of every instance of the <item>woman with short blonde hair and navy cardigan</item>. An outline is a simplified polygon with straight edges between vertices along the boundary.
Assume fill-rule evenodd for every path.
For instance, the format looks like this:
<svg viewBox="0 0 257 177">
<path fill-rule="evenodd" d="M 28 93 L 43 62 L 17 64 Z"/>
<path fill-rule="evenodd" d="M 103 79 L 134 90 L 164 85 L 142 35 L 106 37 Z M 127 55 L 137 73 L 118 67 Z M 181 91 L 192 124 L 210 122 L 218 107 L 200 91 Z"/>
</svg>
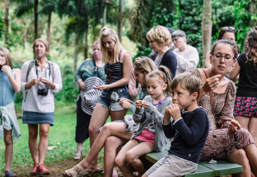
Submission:
<svg viewBox="0 0 257 177">
<path fill-rule="evenodd" d="M 147 32 L 146 38 L 149 40 L 152 50 L 159 53 L 154 59 L 157 68 L 160 65 L 166 66 L 173 78 L 176 74 L 177 59 L 169 47 L 170 42 L 172 42 L 169 30 L 160 25 L 155 26 Z"/>
</svg>

